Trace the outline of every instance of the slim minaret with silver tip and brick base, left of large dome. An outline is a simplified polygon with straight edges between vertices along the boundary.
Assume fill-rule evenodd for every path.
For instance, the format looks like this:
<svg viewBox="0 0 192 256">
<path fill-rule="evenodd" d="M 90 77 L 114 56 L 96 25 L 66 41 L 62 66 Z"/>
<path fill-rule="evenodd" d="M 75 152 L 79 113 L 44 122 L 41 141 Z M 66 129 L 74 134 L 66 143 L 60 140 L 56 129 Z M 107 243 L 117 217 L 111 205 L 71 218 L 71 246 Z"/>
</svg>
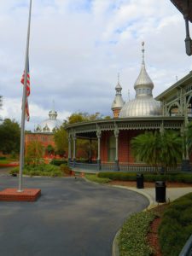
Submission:
<svg viewBox="0 0 192 256">
<path fill-rule="evenodd" d="M 115 94 L 111 109 L 113 111 L 113 118 L 118 118 L 119 112 L 125 104 L 121 95 L 122 87 L 119 84 L 119 73 L 118 73 L 118 84 L 115 86 L 115 90 L 116 90 L 116 94 Z"/>
</svg>

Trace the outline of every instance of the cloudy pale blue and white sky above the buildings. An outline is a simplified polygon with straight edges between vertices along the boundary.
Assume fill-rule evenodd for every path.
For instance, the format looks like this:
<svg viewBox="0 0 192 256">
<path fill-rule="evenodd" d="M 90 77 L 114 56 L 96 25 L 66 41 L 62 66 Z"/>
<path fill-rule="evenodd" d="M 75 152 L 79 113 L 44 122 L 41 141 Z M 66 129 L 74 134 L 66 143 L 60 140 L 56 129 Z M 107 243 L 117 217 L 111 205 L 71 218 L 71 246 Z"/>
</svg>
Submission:
<svg viewBox="0 0 192 256">
<path fill-rule="evenodd" d="M 29 0 L 0 1 L 0 115 L 20 123 Z M 191 25 L 191 24 L 190 24 Z M 112 115 L 114 87 L 135 97 L 142 62 L 153 95 L 192 69 L 185 54 L 183 15 L 169 0 L 32 0 L 29 49 L 31 95 L 26 130 L 71 113 Z"/>
</svg>

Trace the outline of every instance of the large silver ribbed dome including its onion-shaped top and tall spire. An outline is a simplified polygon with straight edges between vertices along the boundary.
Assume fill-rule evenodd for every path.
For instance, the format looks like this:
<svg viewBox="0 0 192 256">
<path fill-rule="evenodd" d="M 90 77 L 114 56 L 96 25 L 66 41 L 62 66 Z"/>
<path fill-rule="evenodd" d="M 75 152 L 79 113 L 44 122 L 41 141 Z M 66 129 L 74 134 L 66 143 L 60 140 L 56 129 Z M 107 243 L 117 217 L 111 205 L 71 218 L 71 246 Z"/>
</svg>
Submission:
<svg viewBox="0 0 192 256">
<path fill-rule="evenodd" d="M 142 46 L 142 68 L 134 84 L 134 89 L 136 90 L 136 98 L 130 102 L 125 103 L 124 107 L 119 113 L 120 118 L 145 116 L 148 117 L 158 116 L 161 114 L 160 102 L 155 101 L 152 94 L 154 84 L 149 78 L 148 73 L 145 69 L 144 42 L 142 43 Z"/>
</svg>

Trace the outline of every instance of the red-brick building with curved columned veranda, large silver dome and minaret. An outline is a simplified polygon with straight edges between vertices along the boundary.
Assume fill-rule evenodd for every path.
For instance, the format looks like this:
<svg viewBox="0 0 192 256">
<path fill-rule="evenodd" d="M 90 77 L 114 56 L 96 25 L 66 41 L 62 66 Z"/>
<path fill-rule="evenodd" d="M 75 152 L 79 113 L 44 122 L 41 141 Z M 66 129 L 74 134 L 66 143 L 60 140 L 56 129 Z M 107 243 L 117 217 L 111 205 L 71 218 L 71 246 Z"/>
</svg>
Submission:
<svg viewBox="0 0 192 256">
<path fill-rule="evenodd" d="M 177 130 L 184 136 L 191 117 L 192 73 L 177 81 L 170 88 L 153 98 L 154 84 L 149 78 L 143 60 L 139 76 L 134 84 L 135 99 L 124 102 L 121 86 L 115 87 L 113 100 L 113 119 L 99 119 L 90 122 L 67 125 L 68 164 L 77 169 L 95 171 L 142 171 L 153 168 L 136 162 L 131 154 L 131 138 L 144 131 Z M 78 138 L 97 141 L 97 161 L 80 163 L 76 160 L 76 140 Z M 183 164 L 178 169 L 189 171 L 188 143 L 183 147 Z M 73 152 L 72 152 L 73 148 Z M 91 150 L 90 150 L 91 152 Z"/>
</svg>

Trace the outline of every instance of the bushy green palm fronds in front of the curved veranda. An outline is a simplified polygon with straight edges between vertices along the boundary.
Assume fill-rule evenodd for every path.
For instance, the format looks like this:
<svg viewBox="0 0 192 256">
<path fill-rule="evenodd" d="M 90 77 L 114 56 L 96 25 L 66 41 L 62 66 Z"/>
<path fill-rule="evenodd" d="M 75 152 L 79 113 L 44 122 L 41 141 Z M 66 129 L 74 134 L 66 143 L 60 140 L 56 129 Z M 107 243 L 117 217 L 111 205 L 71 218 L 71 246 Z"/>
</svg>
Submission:
<svg viewBox="0 0 192 256">
<path fill-rule="evenodd" d="M 131 140 L 131 150 L 136 160 L 166 171 L 182 159 L 182 138 L 177 131 L 145 132 Z"/>
</svg>

